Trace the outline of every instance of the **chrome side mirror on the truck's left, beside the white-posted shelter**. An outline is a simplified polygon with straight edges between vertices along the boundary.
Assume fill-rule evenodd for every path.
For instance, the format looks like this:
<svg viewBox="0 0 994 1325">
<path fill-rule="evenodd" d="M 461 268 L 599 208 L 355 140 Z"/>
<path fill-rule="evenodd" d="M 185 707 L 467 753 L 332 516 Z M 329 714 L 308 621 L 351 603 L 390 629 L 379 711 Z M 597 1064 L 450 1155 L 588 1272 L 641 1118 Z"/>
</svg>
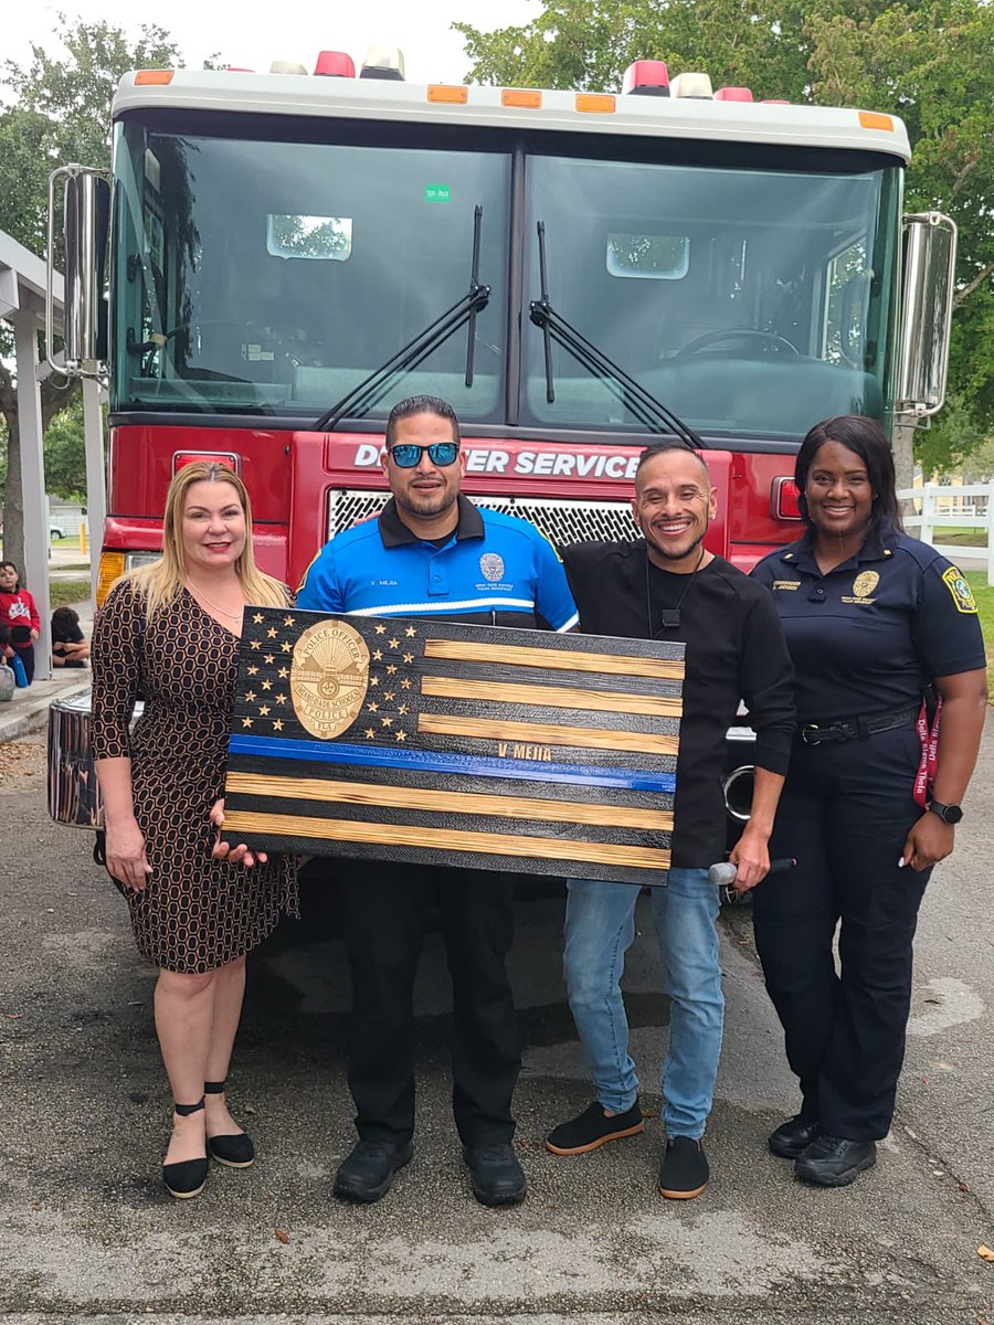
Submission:
<svg viewBox="0 0 994 1325">
<path fill-rule="evenodd" d="M 99 171 L 64 166 L 49 180 L 46 351 L 49 363 L 53 329 L 54 186 L 65 176 L 62 212 L 64 339 L 65 360 L 58 371 L 69 376 L 101 376 L 107 359 L 107 240 L 110 236 L 110 183 Z"/>
</svg>

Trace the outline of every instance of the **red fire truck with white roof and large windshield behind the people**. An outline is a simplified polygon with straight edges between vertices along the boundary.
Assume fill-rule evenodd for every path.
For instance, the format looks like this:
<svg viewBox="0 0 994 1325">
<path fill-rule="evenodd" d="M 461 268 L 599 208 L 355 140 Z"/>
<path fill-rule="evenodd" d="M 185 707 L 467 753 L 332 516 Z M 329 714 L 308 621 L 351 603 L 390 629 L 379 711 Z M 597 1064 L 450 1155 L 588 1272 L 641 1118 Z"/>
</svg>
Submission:
<svg viewBox="0 0 994 1325">
<path fill-rule="evenodd" d="M 797 537 L 812 423 L 941 405 L 954 228 L 903 220 L 899 119 L 656 61 L 620 94 L 350 74 L 129 74 L 113 180 L 66 172 L 66 368 L 110 380 L 101 594 L 193 457 L 241 472 L 297 583 L 382 505 L 386 415 L 420 392 L 459 415 L 465 490 L 553 542 L 631 535 L 639 450 L 688 437 L 744 570 Z"/>
</svg>

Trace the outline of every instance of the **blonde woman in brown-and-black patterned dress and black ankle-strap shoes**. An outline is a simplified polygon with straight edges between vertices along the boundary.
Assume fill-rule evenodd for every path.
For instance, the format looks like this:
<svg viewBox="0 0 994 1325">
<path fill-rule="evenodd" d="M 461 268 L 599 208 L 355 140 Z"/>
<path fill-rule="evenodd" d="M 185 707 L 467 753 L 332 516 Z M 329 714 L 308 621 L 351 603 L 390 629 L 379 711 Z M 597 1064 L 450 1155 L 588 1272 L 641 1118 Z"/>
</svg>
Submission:
<svg viewBox="0 0 994 1325">
<path fill-rule="evenodd" d="M 163 555 L 111 591 L 93 633 L 93 746 L 107 872 L 127 897 L 139 951 L 159 967 L 155 1030 L 172 1088 L 163 1179 L 195 1196 L 208 1154 L 254 1158 L 224 1097 L 245 990 L 245 954 L 296 913 L 296 865 L 215 852 L 247 603 L 284 606 L 257 570 L 252 510 L 224 465 L 180 469 L 166 498 Z M 138 696 L 143 716 L 129 731 Z M 245 869 L 243 867 L 253 868 Z"/>
</svg>

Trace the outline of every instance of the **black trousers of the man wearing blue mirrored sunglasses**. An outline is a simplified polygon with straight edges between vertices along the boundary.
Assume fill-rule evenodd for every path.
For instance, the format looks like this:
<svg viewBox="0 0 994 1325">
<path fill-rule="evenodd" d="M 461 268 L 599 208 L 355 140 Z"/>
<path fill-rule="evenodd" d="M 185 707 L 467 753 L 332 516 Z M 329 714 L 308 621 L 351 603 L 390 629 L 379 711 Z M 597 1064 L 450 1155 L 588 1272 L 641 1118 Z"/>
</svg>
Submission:
<svg viewBox="0 0 994 1325">
<path fill-rule="evenodd" d="M 353 975 L 349 1086 L 363 1141 L 414 1133 L 414 982 L 432 904 L 452 978 L 452 1112 L 464 1145 L 510 1141 L 521 1067 L 505 957 L 513 881 L 477 869 L 349 861 L 342 881 Z"/>
</svg>

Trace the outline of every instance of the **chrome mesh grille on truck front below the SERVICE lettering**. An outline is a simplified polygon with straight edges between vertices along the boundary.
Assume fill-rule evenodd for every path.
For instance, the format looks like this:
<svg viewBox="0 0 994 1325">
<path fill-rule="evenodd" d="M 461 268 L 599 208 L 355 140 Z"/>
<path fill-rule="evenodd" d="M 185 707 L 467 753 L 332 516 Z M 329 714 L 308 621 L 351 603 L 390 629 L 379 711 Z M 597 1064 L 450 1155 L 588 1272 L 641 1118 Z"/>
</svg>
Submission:
<svg viewBox="0 0 994 1325">
<path fill-rule="evenodd" d="M 327 501 L 327 537 L 378 515 L 387 493 L 368 489 L 333 490 Z M 473 496 L 477 506 L 530 519 L 550 543 L 559 547 L 587 539 L 612 543 L 636 537 L 632 509 L 624 501 L 557 501 L 551 497 Z"/>
</svg>

